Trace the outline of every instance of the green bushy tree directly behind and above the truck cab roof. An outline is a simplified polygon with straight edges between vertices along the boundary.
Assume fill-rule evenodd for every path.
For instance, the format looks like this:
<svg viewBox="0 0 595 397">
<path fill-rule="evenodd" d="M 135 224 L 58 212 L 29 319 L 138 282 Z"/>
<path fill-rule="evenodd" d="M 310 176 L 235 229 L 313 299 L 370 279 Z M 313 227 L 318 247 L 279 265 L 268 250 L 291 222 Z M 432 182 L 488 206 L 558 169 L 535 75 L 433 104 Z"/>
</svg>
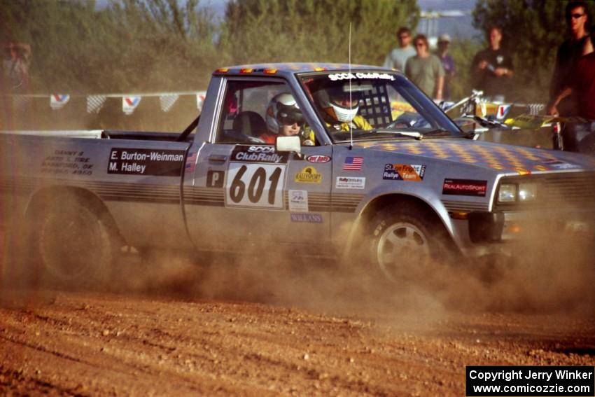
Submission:
<svg viewBox="0 0 595 397">
<path fill-rule="evenodd" d="M 348 62 L 381 64 L 396 29 L 414 27 L 416 0 L 232 0 L 220 46 L 230 64 Z"/>
</svg>

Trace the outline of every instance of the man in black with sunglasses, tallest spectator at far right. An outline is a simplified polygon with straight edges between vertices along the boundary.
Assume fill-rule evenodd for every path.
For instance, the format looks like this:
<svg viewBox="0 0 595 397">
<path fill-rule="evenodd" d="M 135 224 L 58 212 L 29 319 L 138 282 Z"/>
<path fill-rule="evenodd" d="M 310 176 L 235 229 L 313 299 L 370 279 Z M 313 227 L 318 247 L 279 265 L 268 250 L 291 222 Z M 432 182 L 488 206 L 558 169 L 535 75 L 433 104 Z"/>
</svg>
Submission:
<svg viewBox="0 0 595 397">
<path fill-rule="evenodd" d="M 556 64 L 552 82 L 549 85 L 549 102 L 554 102 L 563 88 L 568 85 L 568 78 L 574 69 L 577 60 L 585 48 L 589 48 L 587 27 L 589 24 L 589 13 L 585 1 L 570 1 L 566 5 L 566 23 L 570 37 L 564 41 L 556 53 Z M 592 48 L 592 46 L 590 46 Z M 573 116 L 577 109 L 573 95 L 567 95 L 558 104 L 557 110 L 560 116 Z"/>
</svg>

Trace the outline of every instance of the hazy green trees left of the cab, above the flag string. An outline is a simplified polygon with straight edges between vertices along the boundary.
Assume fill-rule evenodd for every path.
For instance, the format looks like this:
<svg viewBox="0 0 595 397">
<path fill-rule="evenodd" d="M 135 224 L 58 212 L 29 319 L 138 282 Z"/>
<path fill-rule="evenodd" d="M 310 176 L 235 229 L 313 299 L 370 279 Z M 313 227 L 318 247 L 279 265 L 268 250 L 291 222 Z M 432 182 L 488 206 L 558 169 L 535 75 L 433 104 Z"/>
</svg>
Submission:
<svg viewBox="0 0 595 397">
<path fill-rule="evenodd" d="M 36 92 L 198 89 L 216 64 L 199 0 L 0 1 L 1 41 L 31 43 Z"/>
</svg>

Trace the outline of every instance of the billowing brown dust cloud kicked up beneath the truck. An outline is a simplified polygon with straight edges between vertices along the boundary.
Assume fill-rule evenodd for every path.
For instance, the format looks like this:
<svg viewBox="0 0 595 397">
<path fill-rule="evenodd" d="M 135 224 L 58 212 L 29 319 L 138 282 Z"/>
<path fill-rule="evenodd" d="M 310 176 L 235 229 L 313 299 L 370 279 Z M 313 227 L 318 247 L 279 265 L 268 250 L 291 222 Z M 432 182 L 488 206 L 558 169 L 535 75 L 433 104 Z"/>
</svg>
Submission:
<svg viewBox="0 0 595 397">
<path fill-rule="evenodd" d="M 561 235 L 552 242 L 535 228 L 512 247 L 512 256 L 436 262 L 408 271 L 396 283 L 379 279 L 365 261 L 298 258 L 283 249 L 194 258 L 155 253 L 125 260 L 111 289 L 425 322 L 441 321 L 451 312 L 592 315 L 595 268 L 589 241 Z"/>
</svg>

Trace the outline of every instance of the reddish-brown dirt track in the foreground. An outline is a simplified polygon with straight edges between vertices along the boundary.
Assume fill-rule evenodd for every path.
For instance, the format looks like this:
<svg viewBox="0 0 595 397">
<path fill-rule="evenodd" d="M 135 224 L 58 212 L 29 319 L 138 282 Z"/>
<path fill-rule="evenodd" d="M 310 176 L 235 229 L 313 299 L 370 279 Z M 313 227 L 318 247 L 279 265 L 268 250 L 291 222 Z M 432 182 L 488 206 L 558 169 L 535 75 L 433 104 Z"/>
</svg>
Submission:
<svg viewBox="0 0 595 397">
<path fill-rule="evenodd" d="M 110 292 L 5 289 L 0 394 L 461 396 L 465 365 L 595 361 L 592 300 L 520 309 L 415 290 L 381 302 L 373 288 L 314 294 L 328 286 L 319 272 L 322 284 L 273 287 L 266 269 L 201 284 L 165 266 L 176 270 L 146 279 L 127 268 Z"/>
</svg>

